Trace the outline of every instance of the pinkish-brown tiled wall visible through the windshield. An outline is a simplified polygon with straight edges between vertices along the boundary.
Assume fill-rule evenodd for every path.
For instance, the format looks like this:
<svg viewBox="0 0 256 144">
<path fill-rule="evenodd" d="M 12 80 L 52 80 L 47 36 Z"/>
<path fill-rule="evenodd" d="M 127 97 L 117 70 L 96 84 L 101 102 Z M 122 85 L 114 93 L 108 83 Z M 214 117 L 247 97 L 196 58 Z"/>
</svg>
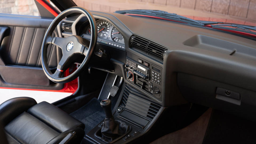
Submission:
<svg viewBox="0 0 256 144">
<path fill-rule="evenodd" d="M 256 18 L 256 0 L 74 0 L 78 6 L 89 10 L 114 12 L 125 10 L 131 5 L 150 5 L 151 7 L 180 7 L 211 13 L 232 15 L 254 19 Z M 103 3 L 109 5 L 103 5 Z M 136 3 L 137 2 L 137 3 Z M 120 4 L 123 5 L 120 7 Z M 127 5 L 128 4 L 128 5 Z M 135 7 L 135 6 L 134 6 Z"/>
</svg>

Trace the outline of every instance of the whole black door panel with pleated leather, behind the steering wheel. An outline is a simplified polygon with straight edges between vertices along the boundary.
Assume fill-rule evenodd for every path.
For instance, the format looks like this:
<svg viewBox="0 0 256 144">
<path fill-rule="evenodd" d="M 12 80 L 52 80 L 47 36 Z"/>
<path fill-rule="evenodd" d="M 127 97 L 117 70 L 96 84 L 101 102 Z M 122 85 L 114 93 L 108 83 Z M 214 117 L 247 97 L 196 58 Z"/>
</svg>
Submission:
<svg viewBox="0 0 256 144">
<path fill-rule="evenodd" d="M 0 15 L 0 26 L 9 27 L 9 34 L 0 47 L 0 87 L 61 90 L 63 84 L 51 82 L 41 65 L 41 45 L 52 20 L 3 15 Z M 52 70 L 56 69 L 61 55 L 59 48 L 49 45 L 47 58 Z"/>
</svg>

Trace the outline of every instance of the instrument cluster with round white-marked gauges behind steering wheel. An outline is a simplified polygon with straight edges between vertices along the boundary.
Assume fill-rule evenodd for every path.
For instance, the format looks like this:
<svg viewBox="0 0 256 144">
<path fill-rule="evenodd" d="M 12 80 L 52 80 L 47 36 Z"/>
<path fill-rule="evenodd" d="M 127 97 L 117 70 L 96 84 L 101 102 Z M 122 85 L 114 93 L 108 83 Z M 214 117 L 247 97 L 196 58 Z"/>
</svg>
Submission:
<svg viewBox="0 0 256 144">
<path fill-rule="evenodd" d="M 125 43 L 122 34 L 110 22 L 99 19 L 96 22 L 98 31 L 98 42 L 121 50 L 125 50 Z M 82 34 L 83 38 L 89 39 L 91 27 L 87 26 Z"/>
</svg>

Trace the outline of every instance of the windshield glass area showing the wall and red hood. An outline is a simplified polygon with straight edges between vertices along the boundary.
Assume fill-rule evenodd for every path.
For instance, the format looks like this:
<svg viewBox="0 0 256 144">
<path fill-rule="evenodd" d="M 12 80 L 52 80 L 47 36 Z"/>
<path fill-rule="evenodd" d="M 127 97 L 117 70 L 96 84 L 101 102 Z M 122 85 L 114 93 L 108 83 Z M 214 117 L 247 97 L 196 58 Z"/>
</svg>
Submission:
<svg viewBox="0 0 256 144">
<path fill-rule="evenodd" d="M 161 10 L 193 20 L 256 26 L 256 1 L 252 0 L 74 0 L 74 2 L 77 6 L 93 11 Z M 217 24 L 221 23 L 213 23 L 212 25 Z M 247 30 L 233 27 L 233 25 L 213 26 L 214 29 L 226 29 L 226 27 L 231 31 L 256 32 L 254 29 Z"/>
</svg>

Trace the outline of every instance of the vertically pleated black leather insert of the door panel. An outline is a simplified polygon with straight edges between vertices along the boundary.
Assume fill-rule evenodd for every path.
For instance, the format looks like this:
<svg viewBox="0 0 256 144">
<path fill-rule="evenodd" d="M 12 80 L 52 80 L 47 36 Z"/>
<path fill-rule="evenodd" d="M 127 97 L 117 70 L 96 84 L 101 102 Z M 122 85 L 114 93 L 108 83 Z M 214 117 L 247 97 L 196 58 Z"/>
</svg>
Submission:
<svg viewBox="0 0 256 144">
<path fill-rule="evenodd" d="M 1 47 L 1 57 L 6 65 L 42 67 L 41 45 L 47 29 L 34 27 L 10 27 L 7 44 Z M 48 47 L 49 67 L 57 66 L 57 48 Z"/>
</svg>

